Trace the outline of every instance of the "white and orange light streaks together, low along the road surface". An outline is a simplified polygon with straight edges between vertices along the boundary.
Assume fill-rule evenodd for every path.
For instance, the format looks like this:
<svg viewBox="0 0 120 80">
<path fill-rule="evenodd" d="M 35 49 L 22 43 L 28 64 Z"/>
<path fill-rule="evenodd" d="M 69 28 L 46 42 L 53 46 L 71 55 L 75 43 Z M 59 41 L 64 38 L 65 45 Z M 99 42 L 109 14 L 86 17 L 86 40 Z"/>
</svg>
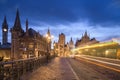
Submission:
<svg viewBox="0 0 120 80">
<path fill-rule="evenodd" d="M 82 58 L 85 58 L 85 57 L 82 57 Z M 110 66 L 106 66 L 106 65 L 103 65 L 103 64 L 100 64 L 100 63 L 109 64 L 109 65 L 114 65 L 114 66 L 120 67 L 120 65 L 118 65 L 118 64 L 109 63 L 109 62 L 105 62 L 105 61 L 100 61 L 100 60 L 96 60 L 96 59 L 90 59 L 90 58 L 85 58 L 85 60 L 84 60 L 84 59 L 80 59 L 80 57 L 78 57 L 78 59 L 81 60 L 81 61 L 85 61 L 85 62 L 88 62 L 88 63 L 91 63 L 91 64 L 95 64 L 97 66 L 104 67 L 104 68 L 107 68 L 107 69 L 110 69 L 110 70 L 113 70 L 113 71 L 116 71 L 116 72 L 120 73 L 120 69 L 116 69 L 116 68 L 113 68 L 113 67 L 110 67 Z M 92 60 L 92 61 L 90 61 L 90 60 Z M 96 62 L 93 62 L 93 61 L 96 61 Z M 97 63 L 97 62 L 100 62 L 100 63 Z"/>
</svg>

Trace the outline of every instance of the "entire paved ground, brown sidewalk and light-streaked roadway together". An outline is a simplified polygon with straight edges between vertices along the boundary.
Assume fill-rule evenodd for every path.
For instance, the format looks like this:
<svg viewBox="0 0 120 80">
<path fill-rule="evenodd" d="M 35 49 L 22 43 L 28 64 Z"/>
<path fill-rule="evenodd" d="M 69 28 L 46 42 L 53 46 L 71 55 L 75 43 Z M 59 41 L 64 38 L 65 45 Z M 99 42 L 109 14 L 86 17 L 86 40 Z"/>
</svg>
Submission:
<svg viewBox="0 0 120 80">
<path fill-rule="evenodd" d="M 120 80 L 120 60 L 86 55 L 56 57 L 21 80 Z"/>
</svg>

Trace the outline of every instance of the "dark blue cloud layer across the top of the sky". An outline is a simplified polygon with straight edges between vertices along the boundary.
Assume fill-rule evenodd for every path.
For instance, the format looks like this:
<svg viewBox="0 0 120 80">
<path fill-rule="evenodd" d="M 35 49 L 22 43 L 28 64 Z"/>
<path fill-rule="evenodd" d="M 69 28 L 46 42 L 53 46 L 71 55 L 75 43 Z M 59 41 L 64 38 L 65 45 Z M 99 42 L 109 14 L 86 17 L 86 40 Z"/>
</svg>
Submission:
<svg viewBox="0 0 120 80">
<path fill-rule="evenodd" d="M 54 25 L 88 20 L 90 25 L 120 25 L 120 8 L 115 7 L 119 0 L 29 0 L 29 3 L 27 0 L 1 0 L 4 1 L 6 4 L 0 5 L 2 12 L 7 10 L 6 13 L 13 15 L 18 7 L 21 15 L 31 21 Z"/>
</svg>

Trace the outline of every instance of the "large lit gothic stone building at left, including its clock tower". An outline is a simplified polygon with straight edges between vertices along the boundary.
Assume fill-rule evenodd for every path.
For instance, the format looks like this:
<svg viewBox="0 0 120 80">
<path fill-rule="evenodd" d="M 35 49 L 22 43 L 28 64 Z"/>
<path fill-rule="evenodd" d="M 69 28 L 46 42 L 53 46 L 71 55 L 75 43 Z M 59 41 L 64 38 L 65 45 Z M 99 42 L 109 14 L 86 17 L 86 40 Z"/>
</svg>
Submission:
<svg viewBox="0 0 120 80">
<path fill-rule="evenodd" d="M 17 9 L 14 26 L 10 29 L 11 43 L 8 42 L 8 24 L 6 16 L 2 24 L 2 44 L 0 43 L 0 57 L 4 59 L 25 59 L 40 57 L 51 52 L 51 34 L 48 29 L 47 37 L 29 28 L 26 20 L 24 31 L 20 22 L 19 10 Z"/>
</svg>

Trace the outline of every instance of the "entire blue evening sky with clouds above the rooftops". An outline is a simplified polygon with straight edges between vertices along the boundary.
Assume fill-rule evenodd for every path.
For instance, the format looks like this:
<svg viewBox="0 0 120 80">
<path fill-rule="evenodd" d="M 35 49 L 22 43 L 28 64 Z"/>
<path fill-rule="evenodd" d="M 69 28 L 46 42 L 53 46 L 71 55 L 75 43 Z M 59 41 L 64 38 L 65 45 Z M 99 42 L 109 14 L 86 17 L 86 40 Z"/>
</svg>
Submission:
<svg viewBox="0 0 120 80">
<path fill-rule="evenodd" d="M 75 43 L 85 31 L 98 41 L 120 37 L 120 0 L 0 0 L 0 25 L 6 16 L 13 27 L 17 8 L 23 29 L 28 19 L 29 28 L 42 35 L 49 28 L 55 41 L 64 33 L 66 42 L 72 37 Z"/>
</svg>

